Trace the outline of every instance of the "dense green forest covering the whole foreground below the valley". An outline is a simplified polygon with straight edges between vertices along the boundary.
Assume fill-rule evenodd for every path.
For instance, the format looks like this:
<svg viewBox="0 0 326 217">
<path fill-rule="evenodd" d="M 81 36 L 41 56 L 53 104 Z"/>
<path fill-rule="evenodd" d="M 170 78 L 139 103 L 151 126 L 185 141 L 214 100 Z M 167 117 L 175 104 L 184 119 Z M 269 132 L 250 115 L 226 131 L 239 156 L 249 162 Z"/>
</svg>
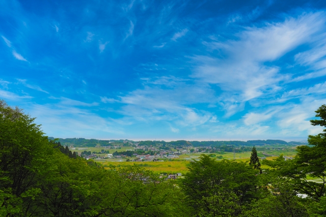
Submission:
<svg viewBox="0 0 326 217">
<path fill-rule="evenodd" d="M 312 125 L 325 127 L 326 106 L 316 113 Z M 250 162 L 203 154 L 165 180 L 79 158 L 4 101 L 0 114 L 0 216 L 326 216 L 326 130 L 293 160 L 264 161 L 269 170 L 252 148 Z"/>
</svg>

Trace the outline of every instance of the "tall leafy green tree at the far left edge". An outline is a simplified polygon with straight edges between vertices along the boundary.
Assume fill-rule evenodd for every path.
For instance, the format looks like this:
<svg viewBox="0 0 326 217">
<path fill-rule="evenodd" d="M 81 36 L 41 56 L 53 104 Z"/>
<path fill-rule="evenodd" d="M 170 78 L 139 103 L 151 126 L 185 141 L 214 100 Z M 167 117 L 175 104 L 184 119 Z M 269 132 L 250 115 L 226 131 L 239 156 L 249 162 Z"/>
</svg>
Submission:
<svg viewBox="0 0 326 217">
<path fill-rule="evenodd" d="M 40 192 L 38 171 L 53 152 L 35 118 L 0 101 L 0 213 L 14 216 L 29 211 Z"/>
</svg>

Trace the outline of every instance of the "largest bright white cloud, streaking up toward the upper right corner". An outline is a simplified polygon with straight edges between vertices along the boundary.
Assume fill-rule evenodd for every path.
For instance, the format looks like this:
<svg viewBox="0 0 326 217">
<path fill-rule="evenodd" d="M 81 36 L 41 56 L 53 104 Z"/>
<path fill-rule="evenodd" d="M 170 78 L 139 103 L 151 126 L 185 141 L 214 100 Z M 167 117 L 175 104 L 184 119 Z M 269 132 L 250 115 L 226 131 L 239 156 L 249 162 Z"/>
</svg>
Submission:
<svg viewBox="0 0 326 217">
<path fill-rule="evenodd" d="M 289 75 L 280 74 L 279 67 L 266 66 L 297 46 L 310 42 L 324 28 L 323 13 L 303 14 L 284 22 L 248 27 L 238 40 L 205 42 L 208 50 L 219 50 L 220 56 L 193 56 L 194 78 L 216 84 L 224 91 L 221 96 L 227 115 L 244 108 L 245 102 L 281 90 L 279 83 Z M 213 37 L 214 39 L 214 37 Z"/>
</svg>

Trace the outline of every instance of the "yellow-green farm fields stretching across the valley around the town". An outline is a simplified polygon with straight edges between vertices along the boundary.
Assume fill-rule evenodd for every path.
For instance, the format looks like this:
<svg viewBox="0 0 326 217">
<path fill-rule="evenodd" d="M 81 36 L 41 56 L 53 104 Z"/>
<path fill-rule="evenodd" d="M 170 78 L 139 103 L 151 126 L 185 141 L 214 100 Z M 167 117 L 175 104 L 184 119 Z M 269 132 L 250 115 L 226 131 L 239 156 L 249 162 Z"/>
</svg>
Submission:
<svg viewBox="0 0 326 217">
<path fill-rule="evenodd" d="M 115 147 L 115 148 L 114 148 Z M 188 148 L 187 150 L 189 150 Z M 260 151 L 258 155 L 263 157 L 263 154 L 268 154 L 270 157 L 267 157 L 267 160 L 275 159 L 280 154 L 288 157 L 294 157 L 296 154 L 295 146 L 268 146 L 268 148 L 260 147 Z M 135 151 L 137 150 L 133 146 L 97 146 L 97 147 L 75 147 L 72 149 L 73 151 L 77 151 L 81 153 L 82 151 L 90 151 L 96 154 L 96 157 L 92 158 L 95 162 L 101 163 L 105 168 L 110 167 L 126 167 L 132 165 L 138 165 L 140 167 L 144 167 L 153 172 L 157 172 L 160 174 L 175 174 L 175 173 L 186 173 L 188 171 L 187 166 L 189 162 L 194 160 L 199 160 L 201 154 L 208 154 L 211 158 L 214 158 L 218 161 L 220 160 L 234 160 L 237 162 L 249 162 L 251 151 L 243 151 L 243 152 L 228 152 L 228 151 L 218 151 L 216 153 L 209 152 L 196 152 L 196 153 L 183 153 L 179 154 L 176 158 L 169 159 L 166 156 L 159 156 L 156 158 L 156 161 L 136 161 L 139 159 L 138 157 L 120 157 L 116 156 L 115 158 L 108 158 L 107 152 L 113 154 L 114 152 L 123 152 L 123 151 Z M 106 153 L 101 153 L 103 150 Z M 171 146 L 171 151 L 177 151 L 173 149 Z M 272 157 L 273 156 L 273 157 Z M 262 163 L 262 162 L 261 162 Z M 269 169 L 267 165 L 262 163 L 262 169 Z"/>
</svg>

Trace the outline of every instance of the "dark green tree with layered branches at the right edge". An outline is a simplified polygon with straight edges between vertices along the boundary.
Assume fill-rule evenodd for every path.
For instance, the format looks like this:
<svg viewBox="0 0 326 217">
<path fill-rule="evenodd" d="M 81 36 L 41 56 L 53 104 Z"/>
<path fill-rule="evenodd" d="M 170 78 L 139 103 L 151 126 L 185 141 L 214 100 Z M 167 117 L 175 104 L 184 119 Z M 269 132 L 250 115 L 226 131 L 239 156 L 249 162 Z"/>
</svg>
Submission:
<svg viewBox="0 0 326 217">
<path fill-rule="evenodd" d="M 322 105 L 316 110 L 316 117 L 311 120 L 313 126 L 326 126 L 326 106 Z M 324 129 L 323 132 L 326 132 Z M 279 176 L 288 177 L 288 181 L 295 184 L 297 192 L 307 194 L 319 201 L 326 193 L 326 133 L 308 136 L 307 145 L 298 146 L 297 154 L 291 161 L 285 161 L 282 156 L 274 161 L 264 161 L 276 169 Z M 319 178 L 314 182 L 307 176 Z"/>
</svg>

